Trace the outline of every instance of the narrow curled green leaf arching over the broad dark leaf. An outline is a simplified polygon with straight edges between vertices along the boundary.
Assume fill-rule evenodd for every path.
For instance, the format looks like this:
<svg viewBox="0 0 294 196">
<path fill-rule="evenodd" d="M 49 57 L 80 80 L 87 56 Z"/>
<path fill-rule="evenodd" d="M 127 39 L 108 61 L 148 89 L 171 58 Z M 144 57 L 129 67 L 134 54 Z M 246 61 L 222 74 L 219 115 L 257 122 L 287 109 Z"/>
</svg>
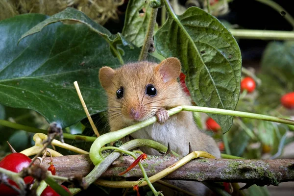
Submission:
<svg viewBox="0 0 294 196">
<path fill-rule="evenodd" d="M 24 35 L 22 35 L 22 37 L 19 39 L 19 42 L 29 35 L 40 32 L 45 26 L 50 25 L 52 23 L 61 22 L 61 21 L 75 21 L 75 22 L 88 26 L 92 31 L 98 33 L 107 41 L 107 43 L 110 46 L 111 52 L 114 54 L 114 56 L 119 57 L 119 53 L 122 52 L 117 47 L 118 43 L 120 44 L 122 43 L 124 46 L 129 45 L 130 48 L 133 49 L 132 45 L 130 45 L 125 39 L 122 39 L 122 36 L 120 33 L 118 33 L 117 36 L 112 35 L 106 28 L 94 22 L 83 12 L 78 11 L 72 7 L 68 7 L 62 12 L 54 14 L 53 16 L 42 21 L 38 25 L 33 26 L 31 29 L 25 32 Z M 118 42 L 118 39 L 120 40 L 120 42 Z M 123 62 L 121 63 L 123 64 Z"/>
</svg>

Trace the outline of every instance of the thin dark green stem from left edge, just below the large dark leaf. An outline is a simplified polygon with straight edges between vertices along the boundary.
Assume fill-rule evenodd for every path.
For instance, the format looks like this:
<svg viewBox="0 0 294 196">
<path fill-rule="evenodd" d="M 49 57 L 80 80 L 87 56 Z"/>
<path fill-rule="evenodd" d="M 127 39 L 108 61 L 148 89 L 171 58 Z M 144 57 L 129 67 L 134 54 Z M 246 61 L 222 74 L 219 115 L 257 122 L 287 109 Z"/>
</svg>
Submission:
<svg viewBox="0 0 294 196">
<path fill-rule="evenodd" d="M 30 133 L 44 133 L 47 134 L 47 130 L 39 129 L 31 126 L 26 126 L 23 124 L 18 123 L 12 123 L 5 120 L 0 120 L 0 125 L 7 126 L 10 128 L 18 129 L 18 130 L 24 130 Z M 82 135 L 72 135 L 69 133 L 64 133 L 63 137 L 66 139 L 72 139 L 72 140 L 83 140 L 85 142 L 94 142 L 97 138 L 96 137 L 89 137 L 89 136 L 82 136 Z"/>
</svg>

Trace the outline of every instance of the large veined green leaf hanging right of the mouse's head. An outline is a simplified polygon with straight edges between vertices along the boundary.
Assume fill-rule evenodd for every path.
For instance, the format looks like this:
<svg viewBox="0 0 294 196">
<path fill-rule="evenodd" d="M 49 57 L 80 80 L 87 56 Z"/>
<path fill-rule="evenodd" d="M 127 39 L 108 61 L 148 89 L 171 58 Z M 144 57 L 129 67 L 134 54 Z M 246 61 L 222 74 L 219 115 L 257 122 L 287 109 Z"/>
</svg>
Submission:
<svg viewBox="0 0 294 196">
<path fill-rule="evenodd" d="M 180 59 L 197 105 L 234 110 L 241 78 L 241 53 L 236 40 L 219 20 L 197 7 L 190 7 L 180 16 L 168 4 L 166 7 L 168 19 L 155 34 L 155 48 L 165 57 Z M 232 125 L 233 117 L 210 116 L 223 131 Z"/>
</svg>

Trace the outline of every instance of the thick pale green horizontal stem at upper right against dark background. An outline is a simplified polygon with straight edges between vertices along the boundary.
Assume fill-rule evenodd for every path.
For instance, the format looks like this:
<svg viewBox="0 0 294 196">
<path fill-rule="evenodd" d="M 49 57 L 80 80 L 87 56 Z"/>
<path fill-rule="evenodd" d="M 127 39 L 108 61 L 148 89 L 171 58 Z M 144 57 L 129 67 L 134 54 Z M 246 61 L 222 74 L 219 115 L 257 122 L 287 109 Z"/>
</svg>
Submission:
<svg viewBox="0 0 294 196">
<path fill-rule="evenodd" d="M 235 38 L 258 39 L 258 40 L 294 40 L 293 31 L 274 31 L 274 30 L 247 30 L 233 29 L 229 31 Z"/>
</svg>

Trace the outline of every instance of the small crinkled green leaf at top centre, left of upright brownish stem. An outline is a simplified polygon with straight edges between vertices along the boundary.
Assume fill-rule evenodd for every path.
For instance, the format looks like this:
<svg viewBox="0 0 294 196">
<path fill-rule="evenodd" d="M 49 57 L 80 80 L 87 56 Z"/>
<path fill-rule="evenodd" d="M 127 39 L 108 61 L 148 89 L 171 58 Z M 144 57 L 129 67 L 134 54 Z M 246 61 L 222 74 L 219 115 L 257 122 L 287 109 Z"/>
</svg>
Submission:
<svg viewBox="0 0 294 196">
<path fill-rule="evenodd" d="M 137 47 L 143 46 L 151 9 L 146 0 L 129 0 L 127 4 L 123 36 Z"/>
</svg>

